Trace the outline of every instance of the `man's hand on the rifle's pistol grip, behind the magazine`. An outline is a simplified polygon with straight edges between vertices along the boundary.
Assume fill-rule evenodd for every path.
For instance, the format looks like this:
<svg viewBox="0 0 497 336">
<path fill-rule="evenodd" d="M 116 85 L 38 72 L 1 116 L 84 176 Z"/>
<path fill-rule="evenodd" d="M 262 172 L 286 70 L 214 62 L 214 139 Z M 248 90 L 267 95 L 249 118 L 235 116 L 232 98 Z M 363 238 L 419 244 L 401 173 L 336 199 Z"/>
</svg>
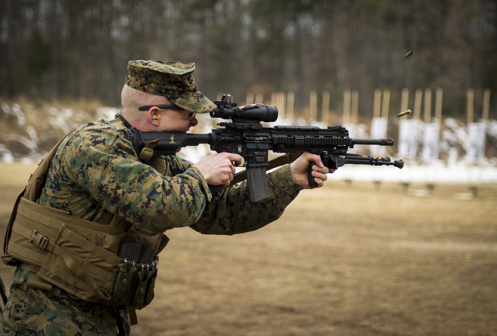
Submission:
<svg viewBox="0 0 497 336">
<path fill-rule="evenodd" d="M 229 186 L 235 174 L 235 166 L 241 165 L 243 157 L 234 153 L 216 153 L 203 158 L 193 166 L 197 167 L 211 186 Z"/>
</svg>

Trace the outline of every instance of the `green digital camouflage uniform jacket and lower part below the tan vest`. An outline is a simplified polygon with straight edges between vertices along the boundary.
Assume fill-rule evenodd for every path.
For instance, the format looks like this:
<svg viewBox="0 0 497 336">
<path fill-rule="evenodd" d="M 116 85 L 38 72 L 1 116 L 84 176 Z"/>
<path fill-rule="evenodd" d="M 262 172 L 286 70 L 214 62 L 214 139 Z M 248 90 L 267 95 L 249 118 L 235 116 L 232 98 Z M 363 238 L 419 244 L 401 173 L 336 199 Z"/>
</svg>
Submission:
<svg viewBox="0 0 497 336">
<path fill-rule="evenodd" d="M 98 223 L 108 224 L 117 214 L 150 231 L 190 226 L 204 234 L 232 235 L 274 221 L 302 189 L 285 166 L 267 175 L 271 198 L 253 203 L 246 182 L 211 194 L 200 171 L 177 155 L 153 166 L 140 162 L 129 138 L 108 122 L 86 124 L 58 148 L 40 203 Z M 52 291 L 28 287 L 28 274 L 24 263 L 14 272 L 1 335 L 116 335 L 119 316 L 129 335 L 127 312 L 55 286 Z"/>
</svg>

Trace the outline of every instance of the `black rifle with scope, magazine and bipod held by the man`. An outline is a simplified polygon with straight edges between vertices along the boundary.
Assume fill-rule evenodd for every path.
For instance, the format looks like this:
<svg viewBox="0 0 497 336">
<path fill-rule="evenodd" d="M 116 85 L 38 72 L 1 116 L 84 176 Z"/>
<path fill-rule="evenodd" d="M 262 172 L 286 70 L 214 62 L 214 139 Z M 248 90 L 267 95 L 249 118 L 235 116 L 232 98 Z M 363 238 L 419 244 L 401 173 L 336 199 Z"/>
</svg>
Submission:
<svg viewBox="0 0 497 336">
<path fill-rule="evenodd" d="M 390 157 L 374 158 L 347 153 L 354 145 L 392 146 L 393 139 L 354 139 L 342 126 L 319 127 L 275 126 L 263 127 L 261 122 L 274 122 L 278 118 L 278 110 L 273 105 L 251 104 L 238 107 L 231 102 L 230 95 L 222 95 L 221 100 L 214 101 L 217 108 L 210 113 L 212 118 L 231 119 L 231 122 L 217 124 L 221 128 L 212 133 L 194 134 L 183 132 L 141 132 L 127 129 L 126 132 L 142 162 L 151 164 L 160 155 L 173 155 L 179 147 L 197 146 L 207 143 L 211 149 L 220 152 L 237 153 L 244 157 L 245 173 L 250 198 L 258 202 L 270 197 L 266 171 L 274 168 L 268 162 L 268 151 L 275 153 L 318 154 L 324 165 L 337 169 L 345 164 L 369 164 L 372 166 L 392 165 L 404 167 L 404 161 L 391 161 Z M 287 155 L 289 157 L 289 155 Z M 295 160 L 289 158 L 286 162 Z M 279 163 L 285 162 L 279 160 Z M 283 164 L 281 163 L 281 164 Z M 279 165 L 281 165 L 279 164 Z M 317 187 L 309 166 L 309 186 Z M 213 191 L 222 187 L 214 186 Z"/>
</svg>

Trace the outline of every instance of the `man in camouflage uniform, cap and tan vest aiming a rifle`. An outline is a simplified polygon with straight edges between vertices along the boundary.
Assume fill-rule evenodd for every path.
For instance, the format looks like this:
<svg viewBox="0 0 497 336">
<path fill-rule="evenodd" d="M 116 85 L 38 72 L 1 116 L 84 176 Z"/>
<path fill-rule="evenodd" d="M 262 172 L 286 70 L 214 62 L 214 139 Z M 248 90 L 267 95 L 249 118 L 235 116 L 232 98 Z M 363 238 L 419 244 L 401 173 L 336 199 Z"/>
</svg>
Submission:
<svg viewBox="0 0 497 336">
<path fill-rule="evenodd" d="M 42 183 L 31 188 L 30 180 L 6 233 L 22 249 L 14 253 L 13 238 L 4 246 L 2 260 L 17 269 L 1 316 L 1 335 L 130 335 L 134 316 L 129 311 L 144 308 L 161 294 L 154 292 L 153 281 L 168 240 L 165 231 L 188 226 L 202 234 L 233 235 L 261 228 L 309 188 L 311 161 L 316 163 L 315 181 L 323 186 L 330 171 L 309 153 L 267 174 L 271 197 L 261 202 L 250 201 L 246 182 L 221 194 L 209 189 L 230 184 L 233 162 L 242 160 L 238 154 L 215 153 L 195 164 L 178 154 L 141 162 L 123 129 L 187 132 L 198 124 L 196 113 L 215 108 L 198 91 L 194 69 L 194 64 L 180 62 L 130 61 L 115 120 L 73 129 L 42 163 L 46 171 L 34 174 Z M 26 212 L 37 211 L 53 218 L 25 219 Z M 29 225 L 47 223 L 51 228 L 46 232 L 29 231 Z M 56 234 L 49 233 L 54 227 Z M 122 254 L 130 246 L 152 251 L 151 259 L 138 266 Z M 88 257 L 80 258 L 82 253 Z M 145 286 L 123 289 L 127 276 Z"/>
</svg>

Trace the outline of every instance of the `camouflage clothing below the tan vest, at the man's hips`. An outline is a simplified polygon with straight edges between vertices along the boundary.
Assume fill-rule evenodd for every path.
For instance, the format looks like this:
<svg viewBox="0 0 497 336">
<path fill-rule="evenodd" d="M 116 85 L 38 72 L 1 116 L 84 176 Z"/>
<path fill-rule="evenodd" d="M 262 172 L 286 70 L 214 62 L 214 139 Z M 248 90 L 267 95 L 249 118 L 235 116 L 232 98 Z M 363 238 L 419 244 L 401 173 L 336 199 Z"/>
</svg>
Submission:
<svg viewBox="0 0 497 336">
<path fill-rule="evenodd" d="M 44 291 L 26 285 L 29 271 L 22 263 L 13 274 L 10 295 L 1 316 L 0 335 L 117 335 L 118 314 L 123 335 L 130 335 L 127 311 L 71 297 L 61 288 Z"/>
</svg>

